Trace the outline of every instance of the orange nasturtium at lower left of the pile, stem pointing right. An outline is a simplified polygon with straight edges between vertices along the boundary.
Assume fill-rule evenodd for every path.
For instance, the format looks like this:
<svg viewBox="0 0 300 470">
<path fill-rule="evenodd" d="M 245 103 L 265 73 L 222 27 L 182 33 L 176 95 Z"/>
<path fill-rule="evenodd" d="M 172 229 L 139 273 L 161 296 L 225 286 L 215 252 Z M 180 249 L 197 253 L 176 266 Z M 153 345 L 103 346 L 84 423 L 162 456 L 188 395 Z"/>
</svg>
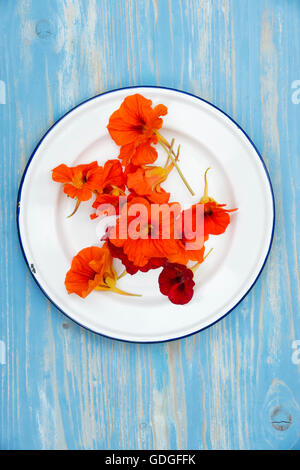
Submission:
<svg viewBox="0 0 300 470">
<path fill-rule="evenodd" d="M 91 246 L 74 256 L 67 272 L 65 286 L 69 294 L 87 297 L 93 290 L 112 291 L 122 295 L 133 295 L 116 287 L 117 274 L 112 265 L 113 258 L 105 243 L 101 248 Z"/>
</svg>

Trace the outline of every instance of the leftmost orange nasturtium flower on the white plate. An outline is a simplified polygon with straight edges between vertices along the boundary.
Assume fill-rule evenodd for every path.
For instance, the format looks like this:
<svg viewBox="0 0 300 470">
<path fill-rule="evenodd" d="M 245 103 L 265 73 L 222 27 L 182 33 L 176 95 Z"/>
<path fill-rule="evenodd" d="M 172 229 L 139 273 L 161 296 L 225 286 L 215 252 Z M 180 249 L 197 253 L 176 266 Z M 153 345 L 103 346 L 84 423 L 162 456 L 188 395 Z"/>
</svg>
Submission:
<svg viewBox="0 0 300 470">
<path fill-rule="evenodd" d="M 52 170 L 52 179 L 64 184 L 64 192 L 78 201 L 88 201 L 100 182 L 101 173 L 97 162 L 68 167 L 59 165 Z"/>
</svg>

